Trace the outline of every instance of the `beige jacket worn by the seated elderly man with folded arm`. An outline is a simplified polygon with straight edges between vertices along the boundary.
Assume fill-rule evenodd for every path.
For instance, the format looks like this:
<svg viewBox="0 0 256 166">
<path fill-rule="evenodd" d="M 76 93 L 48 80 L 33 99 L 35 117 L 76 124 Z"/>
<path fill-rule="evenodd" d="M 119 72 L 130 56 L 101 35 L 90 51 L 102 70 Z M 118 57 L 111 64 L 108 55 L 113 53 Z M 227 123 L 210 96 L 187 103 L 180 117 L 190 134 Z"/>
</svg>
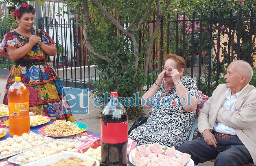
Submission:
<svg viewBox="0 0 256 166">
<path fill-rule="evenodd" d="M 199 112 L 199 132 L 203 133 L 208 128 L 212 130 L 215 122 L 233 127 L 256 165 L 256 88 L 248 85 L 244 89 L 235 104 L 238 111 L 229 111 L 221 107 L 226 99 L 225 89 L 226 84 L 220 84 L 204 103 L 203 109 Z"/>
</svg>

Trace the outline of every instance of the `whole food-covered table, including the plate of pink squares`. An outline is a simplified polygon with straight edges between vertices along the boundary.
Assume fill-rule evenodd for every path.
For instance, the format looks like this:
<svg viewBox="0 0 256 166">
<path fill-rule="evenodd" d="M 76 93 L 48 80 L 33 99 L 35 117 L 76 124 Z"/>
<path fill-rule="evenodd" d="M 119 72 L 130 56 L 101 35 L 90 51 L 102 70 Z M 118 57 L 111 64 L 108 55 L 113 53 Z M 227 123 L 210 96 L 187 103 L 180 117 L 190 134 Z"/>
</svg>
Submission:
<svg viewBox="0 0 256 166">
<path fill-rule="evenodd" d="M 87 131 L 86 124 L 63 120 L 52 122 L 48 116 L 30 114 L 29 133 L 11 136 L 8 106 L 0 105 L 0 115 L 0 166 L 101 164 L 102 135 Z M 128 155 L 128 166 L 194 166 L 189 154 L 182 154 L 174 147 L 158 143 L 136 147 L 129 138 L 125 145 L 127 149 L 123 153 Z"/>
</svg>

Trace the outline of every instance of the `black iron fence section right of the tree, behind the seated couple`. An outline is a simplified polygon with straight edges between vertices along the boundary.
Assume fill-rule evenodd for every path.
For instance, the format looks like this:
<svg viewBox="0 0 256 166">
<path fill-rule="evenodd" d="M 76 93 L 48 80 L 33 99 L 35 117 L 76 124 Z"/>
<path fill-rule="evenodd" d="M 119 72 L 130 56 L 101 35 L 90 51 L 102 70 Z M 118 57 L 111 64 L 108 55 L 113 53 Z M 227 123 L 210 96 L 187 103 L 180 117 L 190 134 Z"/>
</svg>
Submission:
<svg viewBox="0 0 256 166">
<path fill-rule="evenodd" d="M 168 53 L 182 56 L 187 63 L 188 75 L 197 80 L 198 88 L 209 96 L 219 83 L 223 83 L 226 67 L 236 59 L 242 59 L 255 66 L 256 16 L 254 10 L 242 9 L 238 13 L 230 11 L 214 17 L 199 17 L 195 12 L 189 18 L 186 13 L 175 20 L 164 23 L 162 19 L 158 43 L 153 45 L 153 54 L 148 70 L 147 88 L 154 84 L 157 76 L 150 73 L 161 72 L 163 57 Z M 154 18 L 154 17 L 153 17 Z M 170 15 L 167 15 L 167 20 Z M 154 25 L 154 20 L 153 20 Z M 175 42 L 175 44 L 173 44 Z M 219 82 L 222 78 L 222 82 Z M 225 81 L 224 81 L 225 82 Z"/>
</svg>

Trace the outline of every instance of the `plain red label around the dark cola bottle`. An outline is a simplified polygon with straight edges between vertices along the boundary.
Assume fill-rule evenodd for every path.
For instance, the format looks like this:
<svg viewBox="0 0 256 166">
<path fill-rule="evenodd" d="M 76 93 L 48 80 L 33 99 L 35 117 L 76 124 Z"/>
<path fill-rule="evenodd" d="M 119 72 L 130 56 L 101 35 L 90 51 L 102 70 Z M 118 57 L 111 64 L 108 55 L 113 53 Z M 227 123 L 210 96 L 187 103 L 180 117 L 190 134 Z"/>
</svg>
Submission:
<svg viewBox="0 0 256 166">
<path fill-rule="evenodd" d="M 128 121 L 108 123 L 101 121 L 101 141 L 104 143 L 123 143 L 128 139 Z"/>
</svg>

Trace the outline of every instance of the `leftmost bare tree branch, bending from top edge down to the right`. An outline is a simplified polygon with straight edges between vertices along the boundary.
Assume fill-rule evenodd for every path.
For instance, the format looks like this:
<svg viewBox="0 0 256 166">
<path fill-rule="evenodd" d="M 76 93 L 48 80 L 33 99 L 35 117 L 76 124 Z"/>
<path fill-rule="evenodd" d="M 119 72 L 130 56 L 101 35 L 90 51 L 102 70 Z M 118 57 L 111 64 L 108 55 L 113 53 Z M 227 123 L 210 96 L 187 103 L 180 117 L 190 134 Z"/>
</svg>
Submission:
<svg viewBox="0 0 256 166">
<path fill-rule="evenodd" d="M 96 57 L 106 61 L 109 64 L 110 63 L 109 58 L 104 56 L 104 55 L 99 54 L 98 52 L 96 52 L 93 49 L 93 47 L 90 45 L 90 43 L 88 42 L 88 32 L 87 32 L 87 30 L 89 29 L 89 24 L 91 22 L 91 18 L 90 18 L 89 7 L 88 7 L 88 4 L 87 4 L 87 1 L 86 0 L 82 0 L 82 4 L 83 4 L 83 7 L 84 7 L 84 20 L 85 20 L 84 25 L 83 25 L 83 36 L 84 36 L 83 44 Z"/>
</svg>

